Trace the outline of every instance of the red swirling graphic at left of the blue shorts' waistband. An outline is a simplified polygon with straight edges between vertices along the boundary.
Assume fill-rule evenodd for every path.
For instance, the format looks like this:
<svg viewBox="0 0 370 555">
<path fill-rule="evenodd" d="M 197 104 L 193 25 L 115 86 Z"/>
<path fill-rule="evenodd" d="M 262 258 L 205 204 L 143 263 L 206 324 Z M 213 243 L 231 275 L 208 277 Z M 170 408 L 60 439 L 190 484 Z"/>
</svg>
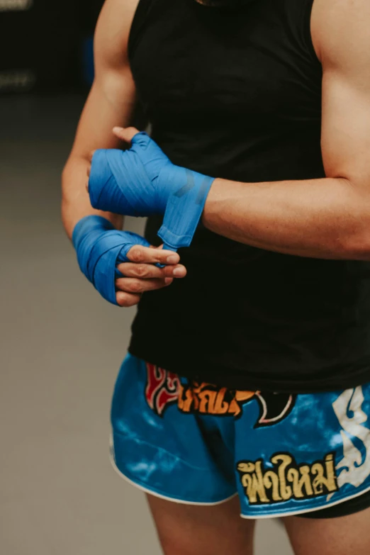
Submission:
<svg viewBox="0 0 370 555">
<path fill-rule="evenodd" d="M 159 368 L 155 364 L 147 363 L 145 397 L 147 404 L 158 416 L 162 416 L 169 405 L 177 403 L 179 392 L 179 376 Z"/>
</svg>

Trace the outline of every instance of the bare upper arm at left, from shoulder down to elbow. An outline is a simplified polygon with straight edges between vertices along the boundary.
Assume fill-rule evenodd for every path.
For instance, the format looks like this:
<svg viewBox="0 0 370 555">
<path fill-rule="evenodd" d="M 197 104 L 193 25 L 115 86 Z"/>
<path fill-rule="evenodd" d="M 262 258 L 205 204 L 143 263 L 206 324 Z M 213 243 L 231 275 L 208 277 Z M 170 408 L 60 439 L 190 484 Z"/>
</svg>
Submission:
<svg viewBox="0 0 370 555">
<path fill-rule="evenodd" d="M 112 128 L 130 125 L 135 84 L 128 62 L 130 26 L 138 0 L 106 0 L 94 38 L 95 79 L 79 120 L 72 155 L 89 156 L 97 148 L 116 148 Z"/>
</svg>

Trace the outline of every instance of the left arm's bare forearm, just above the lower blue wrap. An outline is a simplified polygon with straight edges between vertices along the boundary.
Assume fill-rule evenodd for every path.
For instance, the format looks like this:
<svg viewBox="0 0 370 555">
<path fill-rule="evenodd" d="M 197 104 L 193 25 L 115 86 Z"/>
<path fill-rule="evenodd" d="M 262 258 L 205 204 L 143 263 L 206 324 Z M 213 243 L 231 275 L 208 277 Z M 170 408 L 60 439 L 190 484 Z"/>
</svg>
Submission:
<svg viewBox="0 0 370 555">
<path fill-rule="evenodd" d="M 71 155 L 62 174 L 62 221 L 69 239 L 74 226 L 86 215 L 103 215 L 118 229 L 122 229 L 123 217 L 109 212 L 101 212 L 91 207 L 86 191 L 89 160 Z"/>
</svg>

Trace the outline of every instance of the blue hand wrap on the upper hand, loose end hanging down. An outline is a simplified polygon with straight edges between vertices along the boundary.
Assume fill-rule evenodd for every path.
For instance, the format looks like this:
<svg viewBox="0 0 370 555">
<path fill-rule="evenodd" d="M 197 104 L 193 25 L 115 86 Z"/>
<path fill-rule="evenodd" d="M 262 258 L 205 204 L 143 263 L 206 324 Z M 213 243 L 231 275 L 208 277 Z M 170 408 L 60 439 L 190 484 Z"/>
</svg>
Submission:
<svg viewBox="0 0 370 555">
<path fill-rule="evenodd" d="M 123 215 L 164 214 L 164 248 L 189 247 L 214 178 L 175 166 L 147 135 L 130 150 L 97 150 L 91 163 L 91 205 Z"/>
</svg>

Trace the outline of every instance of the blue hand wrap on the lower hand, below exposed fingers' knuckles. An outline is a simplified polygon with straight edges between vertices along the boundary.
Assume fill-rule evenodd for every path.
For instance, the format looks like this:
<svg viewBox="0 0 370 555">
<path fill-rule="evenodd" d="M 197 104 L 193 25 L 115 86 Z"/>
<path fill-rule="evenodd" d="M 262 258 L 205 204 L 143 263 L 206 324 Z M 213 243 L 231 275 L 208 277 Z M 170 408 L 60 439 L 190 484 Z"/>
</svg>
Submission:
<svg viewBox="0 0 370 555">
<path fill-rule="evenodd" d="M 150 246 L 140 235 L 118 231 L 111 222 L 98 215 L 79 220 L 73 230 L 72 242 L 82 273 L 113 305 L 117 305 L 115 281 L 122 277 L 117 264 L 130 262 L 127 254 L 134 245 Z"/>
</svg>

